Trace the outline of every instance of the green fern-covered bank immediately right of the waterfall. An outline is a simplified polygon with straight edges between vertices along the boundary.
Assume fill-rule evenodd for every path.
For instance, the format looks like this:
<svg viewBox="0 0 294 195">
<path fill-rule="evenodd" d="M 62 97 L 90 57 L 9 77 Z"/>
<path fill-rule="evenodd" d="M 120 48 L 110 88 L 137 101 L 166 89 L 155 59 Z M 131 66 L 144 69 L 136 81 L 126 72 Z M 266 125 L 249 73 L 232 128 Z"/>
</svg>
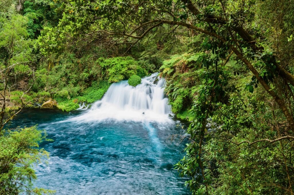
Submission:
<svg viewBox="0 0 294 195">
<path fill-rule="evenodd" d="M 165 77 L 167 85 L 165 92 L 168 96 L 169 102 L 172 106 L 173 113 L 187 113 L 187 110 L 191 108 L 193 101 L 195 100 L 194 95 L 196 93 L 196 83 L 198 83 L 198 75 L 202 69 L 199 69 L 198 54 L 183 54 L 172 56 L 171 59 L 163 62 L 160 67 L 162 71 L 160 75 Z M 188 113 L 185 115 L 179 114 L 180 118 L 184 116 L 188 117 Z M 190 117 L 191 118 L 191 117 Z"/>
</svg>

